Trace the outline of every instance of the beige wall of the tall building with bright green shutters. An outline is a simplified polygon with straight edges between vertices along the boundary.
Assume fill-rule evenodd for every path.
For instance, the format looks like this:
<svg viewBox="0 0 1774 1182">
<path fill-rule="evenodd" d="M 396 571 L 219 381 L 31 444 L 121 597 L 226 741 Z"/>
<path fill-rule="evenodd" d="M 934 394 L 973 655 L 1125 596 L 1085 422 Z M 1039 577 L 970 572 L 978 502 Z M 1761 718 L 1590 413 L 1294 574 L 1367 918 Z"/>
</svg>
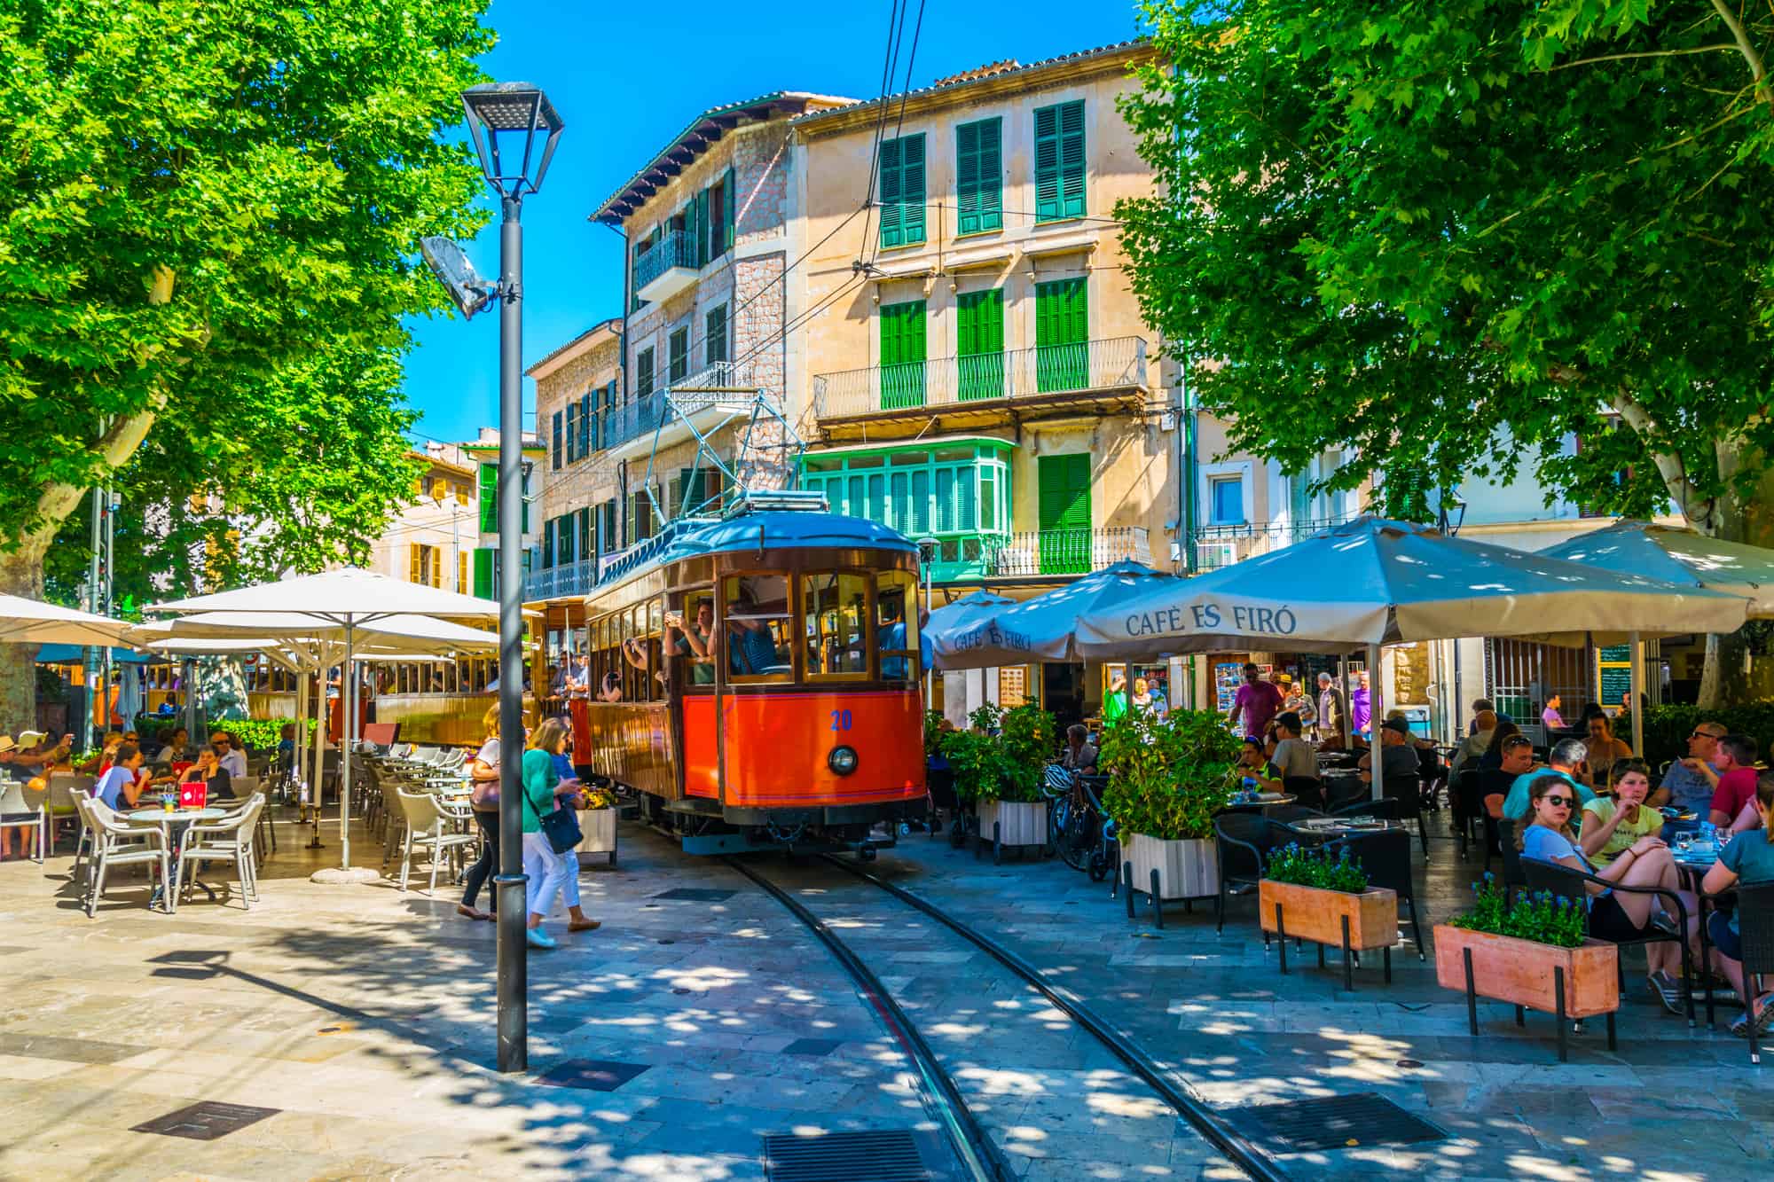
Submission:
<svg viewBox="0 0 1774 1182">
<path fill-rule="evenodd" d="M 805 288 L 802 302 L 809 312 L 823 309 L 791 334 L 791 351 L 804 357 L 800 369 L 807 382 L 789 389 L 789 410 L 809 444 L 887 444 L 914 437 L 930 442 L 944 435 L 1011 440 L 1018 532 L 1038 524 L 1040 456 L 1087 453 L 1091 525 L 1137 527 L 1150 538 L 1150 559 L 1167 563 L 1176 458 L 1162 408 L 1173 366 L 1162 360 L 1158 341 L 1141 319 L 1114 222 L 1118 201 L 1153 190 L 1151 170 L 1116 108 L 1116 99 L 1134 87 L 1128 69 L 1148 55 L 1141 46 L 1119 46 L 917 91 L 905 96 L 903 122 L 896 96 L 885 138 L 924 137 L 926 241 L 901 248 L 882 248 L 880 220 L 862 209 L 878 105 L 795 121 L 805 156 L 798 170 L 805 185 L 798 238 L 812 250 L 797 282 Z M 1070 101 L 1084 103 L 1084 217 L 1038 224 L 1034 112 Z M 1001 121 L 1002 227 L 960 234 L 956 126 L 992 117 Z M 855 390 L 871 380 L 855 371 L 882 364 L 882 305 L 924 300 L 926 357 L 940 362 L 960 350 L 960 296 L 1001 288 L 1006 366 L 1017 369 L 1032 364 L 1024 351 L 1036 346 L 1036 284 L 1073 277 L 1082 277 L 1087 289 L 1091 385 L 1114 389 L 1052 401 L 1015 396 L 977 412 L 965 403 L 937 406 L 933 398 L 928 415 L 896 421 L 862 414 L 869 406 Z M 1112 371 L 1107 378 L 1100 373 L 1105 364 Z M 937 374 L 931 366 L 933 385 Z M 1032 383 L 1025 385 L 1032 392 Z"/>
</svg>

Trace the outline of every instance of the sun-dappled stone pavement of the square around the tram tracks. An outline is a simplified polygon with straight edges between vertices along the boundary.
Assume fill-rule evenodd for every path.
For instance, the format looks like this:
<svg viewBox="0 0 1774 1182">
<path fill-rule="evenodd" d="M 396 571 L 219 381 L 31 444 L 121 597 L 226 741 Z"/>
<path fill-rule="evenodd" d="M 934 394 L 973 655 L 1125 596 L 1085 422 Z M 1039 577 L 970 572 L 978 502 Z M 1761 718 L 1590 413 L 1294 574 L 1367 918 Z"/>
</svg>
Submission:
<svg viewBox="0 0 1774 1182">
<path fill-rule="evenodd" d="M 337 832 L 319 854 L 293 834 L 250 912 L 234 898 L 149 912 L 144 879 L 126 875 L 87 919 L 71 859 L 0 864 L 0 1177 L 759 1178 L 766 1132 L 933 1136 L 848 978 L 720 863 L 633 825 L 619 868 L 587 859 L 585 907 L 605 926 L 557 923 L 561 950 L 530 957 L 532 1070 L 504 1077 L 493 925 L 458 918 L 442 886 L 310 884 Z M 353 848 L 380 857 L 365 834 Z M 757 866 L 876 969 L 1024 1177 L 1233 1177 L 985 953 L 820 863 Z M 1476 871 L 1448 841 L 1432 866 L 1425 925 Z M 1162 932 L 1128 921 L 1107 886 L 1057 861 L 993 866 L 914 836 L 876 870 L 1114 1013 L 1210 1102 L 1380 1091 L 1449 1134 L 1295 1155 L 1291 1177 L 1767 1177 L 1774 1086 L 1740 1040 L 1691 1031 L 1650 994 L 1629 992 L 1618 1052 L 1593 1029 L 1559 1065 L 1545 1015 L 1519 1029 L 1508 1006 L 1485 1006 L 1471 1038 L 1464 999 L 1435 985 L 1409 928 L 1394 983 L 1364 965 L 1350 994 L 1309 955 L 1279 976 L 1251 900 L 1221 937 L 1203 909 L 1169 909 Z M 662 898 L 681 887 L 717 894 Z M 587 1081 L 610 1090 L 566 1086 Z M 199 1100 L 277 1111 L 211 1141 L 131 1131 Z"/>
</svg>

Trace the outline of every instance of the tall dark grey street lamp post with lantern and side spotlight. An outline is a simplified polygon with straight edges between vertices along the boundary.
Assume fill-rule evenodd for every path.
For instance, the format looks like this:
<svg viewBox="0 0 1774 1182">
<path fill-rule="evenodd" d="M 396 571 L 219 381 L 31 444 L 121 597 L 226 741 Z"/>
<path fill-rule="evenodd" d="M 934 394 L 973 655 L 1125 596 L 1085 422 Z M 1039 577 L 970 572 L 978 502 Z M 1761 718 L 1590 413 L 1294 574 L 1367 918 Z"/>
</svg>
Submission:
<svg viewBox="0 0 1774 1182">
<path fill-rule="evenodd" d="M 529 1067 L 523 875 L 523 195 L 541 192 L 561 115 L 541 89 L 497 82 L 461 94 L 486 183 L 498 193 L 498 284 L 447 240 L 420 243 L 463 316 L 498 300 L 498 1070 Z M 546 135 L 538 153 L 538 133 Z"/>
</svg>

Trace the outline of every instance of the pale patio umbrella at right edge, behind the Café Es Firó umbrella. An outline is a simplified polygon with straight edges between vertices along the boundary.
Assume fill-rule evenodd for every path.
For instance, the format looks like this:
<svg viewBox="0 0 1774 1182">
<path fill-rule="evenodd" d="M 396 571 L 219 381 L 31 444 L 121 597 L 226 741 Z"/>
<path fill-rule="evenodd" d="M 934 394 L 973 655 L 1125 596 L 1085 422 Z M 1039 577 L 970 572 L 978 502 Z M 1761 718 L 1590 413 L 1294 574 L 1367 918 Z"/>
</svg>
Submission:
<svg viewBox="0 0 1774 1182">
<path fill-rule="evenodd" d="M 1724 591 L 1749 600 L 1751 619 L 1774 619 L 1774 550 L 1719 541 L 1692 529 L 1621 520 L 1542 550 L 1620 575 L 1650 575 L 1687 587 Z M 1632 742 L 1644 745 L 1644 650 L 1632 637 Z"/>
</svg>

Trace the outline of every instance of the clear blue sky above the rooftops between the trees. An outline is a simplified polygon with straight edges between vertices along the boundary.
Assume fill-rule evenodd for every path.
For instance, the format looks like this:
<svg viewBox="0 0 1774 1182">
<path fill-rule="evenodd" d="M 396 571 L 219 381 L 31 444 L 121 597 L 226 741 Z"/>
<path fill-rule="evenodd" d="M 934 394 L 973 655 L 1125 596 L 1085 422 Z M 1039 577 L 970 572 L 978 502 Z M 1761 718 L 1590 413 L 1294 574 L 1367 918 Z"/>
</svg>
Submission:
<svg viewBox="0 0 1774 1182">
<path fill-rule="evenodd" d="M 566 121 L 543 192 L 523 206 L 525 366 L 621 311 L 623 252 L 591 211 L 699 112 L 768 94 L 880 94 L 889 0 L 804 9 L 736 9 L 683 0 L 667 12 L 582 0 L 493 0 L 498 48 L 484 60 L 498 82 L 534 82 Z M 1015 21 L 926 0 L 912 85 L 1013 57 L 1045 57 L 1126 41 L 1130 0 L 1022 0 Z M 754 14 L 742 20 L 738 14 Z M 912 7 L 915 18 L 917 7 Z M 907 21 L 907 41 L 910 41 Z M 997 25 L 999 32 L 985 32 Z M 1015 25 L 1015 28 L 1009 28 Z M 898 83 L 905 82 L 901 53 Z M 498 227 L 463 243 L 475 268 L 498 273 Z M 406 398 L 424 412 L 417 433 L 474 438 L 497 421 L 498 318 L 419 318 L 406 360 Z M 532 406 L 525 378 L 525 410 Z"/>
</svg>

